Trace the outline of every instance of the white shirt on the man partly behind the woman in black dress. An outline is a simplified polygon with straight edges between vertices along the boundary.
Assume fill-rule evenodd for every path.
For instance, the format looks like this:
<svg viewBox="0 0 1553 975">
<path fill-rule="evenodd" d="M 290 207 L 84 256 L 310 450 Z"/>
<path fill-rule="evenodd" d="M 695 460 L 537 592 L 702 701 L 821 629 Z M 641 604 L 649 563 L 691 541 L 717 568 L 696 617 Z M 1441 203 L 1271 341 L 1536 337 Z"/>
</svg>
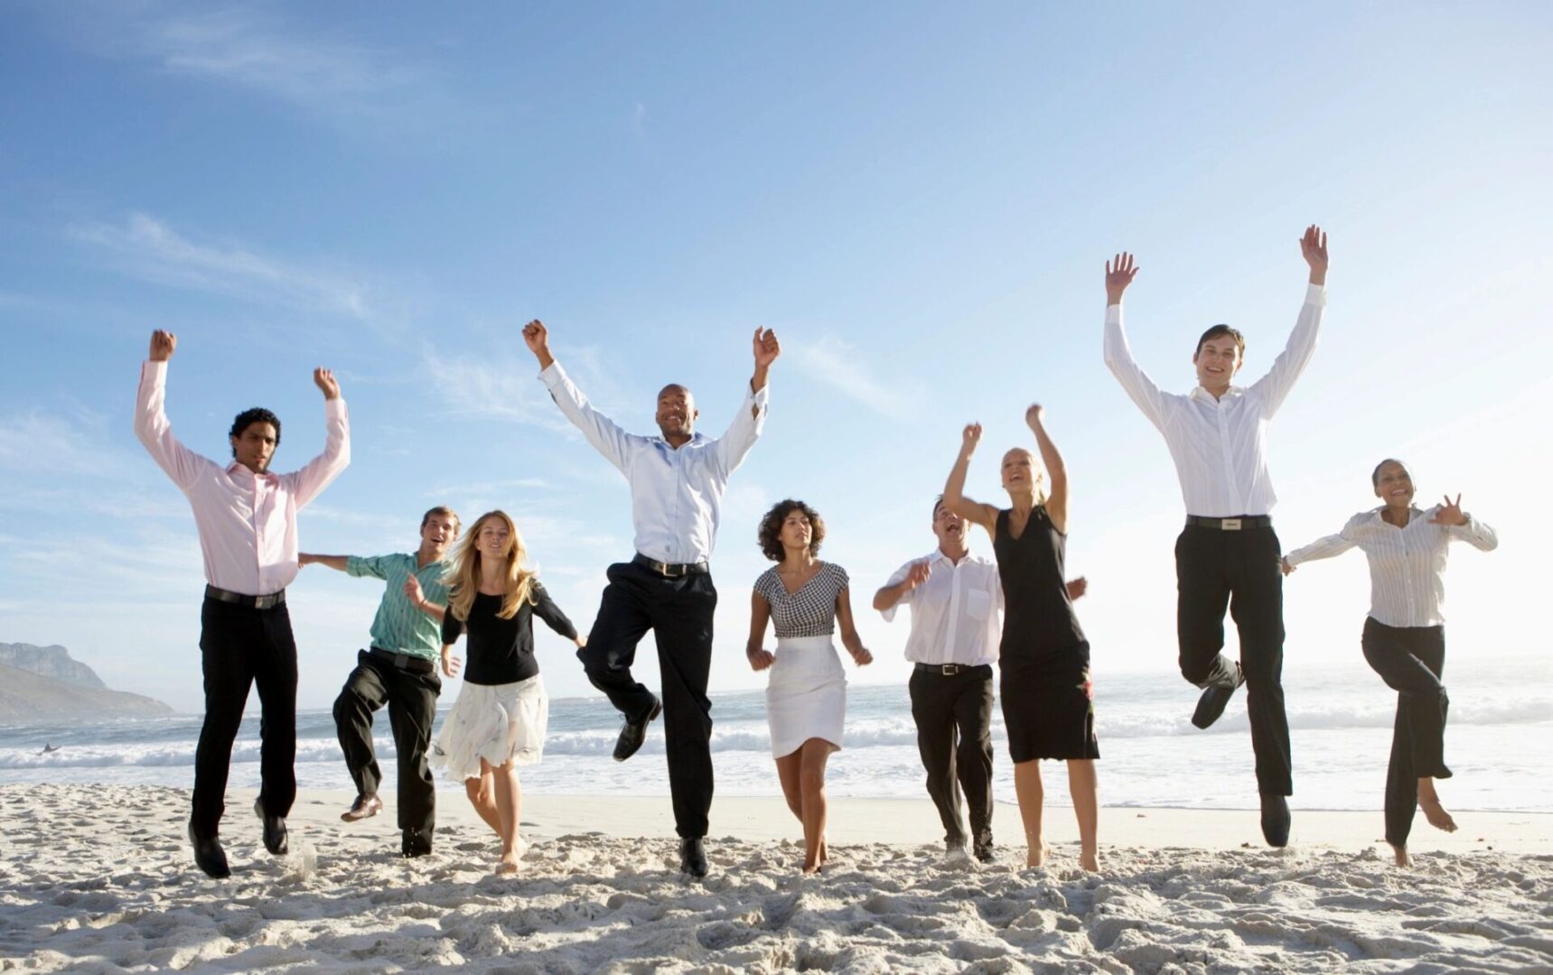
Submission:
<svg viewBox="0 0 1553 975">
<path fill-rule="evenodd" d="M 997 646 L 1003 632 L 999 615 L 1003 610 L 1003 584 L 997 564 L 966 554 L 955 565 L 943 550 L 922 559 L 912 559 L 890 576 L 885 585 L 899 585 L 912 567 L 927 562 L 927 579 L 901 596 L 884 618 L 895 619 L 901 605 L 912 607 L 912 635 L 905 638 L 905 658 L 912 663 L 958 663 L 980 666 L 997 663 Z"/>
</svg>

